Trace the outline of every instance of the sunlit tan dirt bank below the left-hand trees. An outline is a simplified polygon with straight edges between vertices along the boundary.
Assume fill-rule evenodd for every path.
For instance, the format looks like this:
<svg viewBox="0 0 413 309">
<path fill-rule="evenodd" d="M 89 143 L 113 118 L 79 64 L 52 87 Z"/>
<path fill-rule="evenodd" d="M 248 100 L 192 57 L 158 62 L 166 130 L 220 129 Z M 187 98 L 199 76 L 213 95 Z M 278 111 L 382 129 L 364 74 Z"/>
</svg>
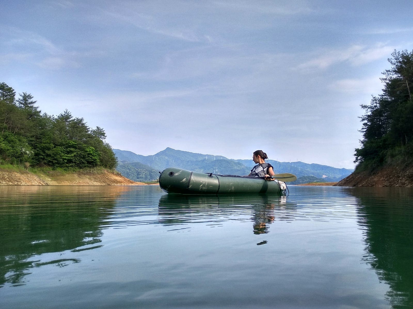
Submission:
<svg viewBox="0 0 413 309">
<path fill-rule="evenodd" d="M 0 169 L 0 185 L 145 185 L 104 170 L 99 173 L 30 173 Z"/>
</svg>

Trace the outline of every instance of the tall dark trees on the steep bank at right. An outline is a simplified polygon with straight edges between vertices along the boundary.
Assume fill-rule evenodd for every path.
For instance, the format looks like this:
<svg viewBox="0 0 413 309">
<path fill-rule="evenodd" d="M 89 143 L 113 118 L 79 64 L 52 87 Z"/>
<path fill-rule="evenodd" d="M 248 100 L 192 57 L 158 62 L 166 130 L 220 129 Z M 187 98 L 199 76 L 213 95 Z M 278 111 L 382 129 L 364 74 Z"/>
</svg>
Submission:
<svg viewBox="0 0 413 309">
<path fill-rule="evenodd" d="M 394 51 L 388 60 L 382 94 L 361 105 L 366 113 L 360 117 L 363 139 L 355 152 L 358 171 L 413 161 L 413 51 Z"/>
</svg>

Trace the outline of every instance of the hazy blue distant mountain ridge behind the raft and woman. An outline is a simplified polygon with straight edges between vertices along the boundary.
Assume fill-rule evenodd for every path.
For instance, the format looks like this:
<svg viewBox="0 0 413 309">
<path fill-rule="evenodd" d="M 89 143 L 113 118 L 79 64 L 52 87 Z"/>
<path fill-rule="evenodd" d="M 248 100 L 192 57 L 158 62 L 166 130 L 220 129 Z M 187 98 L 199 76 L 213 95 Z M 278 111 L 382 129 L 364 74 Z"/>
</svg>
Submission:
<svg viewBox="0 0 413 309">
<path fill-rule="evenodd" d="M 157 180 L 159 172 L 167 167 L 179 167 L 201 173 L 221 175 L 248 175 L 255 163 L 252 159 L 228 159 L 220 155 L 204 155 L 167 147 L 155 155 L 137 155 L 127 150 L 113 150 L 118 158 L 117 171 L 135 181 Z M 334 182 L 350 175 L 352 169 L 338 169 L 304 162 L 278 162 L 267 160 L 275 173 L 292 173 L 297 178 L 313 176 L 321 181 Z"/>
</svg>

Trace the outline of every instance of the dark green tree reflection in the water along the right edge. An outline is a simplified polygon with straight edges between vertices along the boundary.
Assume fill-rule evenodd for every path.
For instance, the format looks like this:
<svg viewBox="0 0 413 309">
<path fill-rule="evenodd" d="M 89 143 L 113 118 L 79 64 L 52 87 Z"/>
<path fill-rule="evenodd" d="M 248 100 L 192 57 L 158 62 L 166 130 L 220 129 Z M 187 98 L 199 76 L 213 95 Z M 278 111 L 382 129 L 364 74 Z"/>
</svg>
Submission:
<svg viewBox="0 0 413 309">
<path fill-rule="evenodd" d="M 362 260 L 385 281 L 393 308 L 413 308 L 412 188 L 348 188 L 359 199 L 358 223 L 364 229 Z"/>
</svg>

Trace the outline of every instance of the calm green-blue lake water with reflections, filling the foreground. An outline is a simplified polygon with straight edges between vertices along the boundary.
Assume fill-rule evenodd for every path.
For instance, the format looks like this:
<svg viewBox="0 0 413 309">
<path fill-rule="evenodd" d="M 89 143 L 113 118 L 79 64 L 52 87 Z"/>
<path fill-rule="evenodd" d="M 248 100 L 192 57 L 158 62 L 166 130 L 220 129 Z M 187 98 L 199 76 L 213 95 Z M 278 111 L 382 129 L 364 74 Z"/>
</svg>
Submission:
<svg viewBox="0 0 413 309">
<path fill-rule="evenodd" d="M 413 190 L 0 186 L 0 308 L 413 308 Z"/>
</svg>

